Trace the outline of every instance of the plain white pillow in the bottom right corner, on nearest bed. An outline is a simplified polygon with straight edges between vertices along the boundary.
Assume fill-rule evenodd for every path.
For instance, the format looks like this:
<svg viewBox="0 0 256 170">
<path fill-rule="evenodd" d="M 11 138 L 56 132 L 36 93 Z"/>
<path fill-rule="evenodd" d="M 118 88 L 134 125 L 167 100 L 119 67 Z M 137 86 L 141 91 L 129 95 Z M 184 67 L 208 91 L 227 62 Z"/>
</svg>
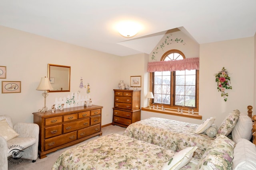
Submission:
<svg viewBox="0 0 256 170">
<path fill-rule="evenodd" d="M 234 170 L 256 169 L 256 146 L 246 139 L 238 139 L 234 148 Z"/>
</svg>

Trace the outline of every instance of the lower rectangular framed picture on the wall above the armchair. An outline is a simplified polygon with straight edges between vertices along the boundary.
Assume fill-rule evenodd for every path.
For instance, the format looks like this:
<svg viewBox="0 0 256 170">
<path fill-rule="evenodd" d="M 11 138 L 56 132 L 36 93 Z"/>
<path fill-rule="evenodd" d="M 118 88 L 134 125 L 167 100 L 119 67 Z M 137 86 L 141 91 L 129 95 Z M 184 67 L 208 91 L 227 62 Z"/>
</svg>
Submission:
<svg viewBox="0 0 256 170">
<path fill-rule="evenodd" d="M 20 93 L 21 81 L 2 81 L 2 93 Z"/>
</svg>

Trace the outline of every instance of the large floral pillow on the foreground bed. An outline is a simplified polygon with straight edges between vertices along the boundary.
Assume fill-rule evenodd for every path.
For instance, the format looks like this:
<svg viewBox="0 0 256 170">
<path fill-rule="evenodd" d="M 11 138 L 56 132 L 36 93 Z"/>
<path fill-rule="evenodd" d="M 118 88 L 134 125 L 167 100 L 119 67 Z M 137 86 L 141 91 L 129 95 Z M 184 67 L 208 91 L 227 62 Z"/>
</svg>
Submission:
<svg viewBox="0 0 256 170">
<path fill-rule="evenodd" d="M 224 135 L 218 136 L 206 149 L 196 169 L 232 170 L 234 141 Z"/>
</svg>

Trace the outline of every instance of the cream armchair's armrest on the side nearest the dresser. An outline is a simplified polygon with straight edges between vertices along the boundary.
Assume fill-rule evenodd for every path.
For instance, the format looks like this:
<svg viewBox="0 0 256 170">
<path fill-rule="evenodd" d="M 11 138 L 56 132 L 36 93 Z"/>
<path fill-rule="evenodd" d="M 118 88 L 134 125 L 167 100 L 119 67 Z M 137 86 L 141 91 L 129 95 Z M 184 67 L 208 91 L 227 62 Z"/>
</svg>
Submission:
<svg viewBox="0 0 256 170">
<path fill-rule="evenodd" d="M 39 137 L 39 126 L 36 123 L 16 123 L 13 129 L 20 137 Z"/>
</svg>

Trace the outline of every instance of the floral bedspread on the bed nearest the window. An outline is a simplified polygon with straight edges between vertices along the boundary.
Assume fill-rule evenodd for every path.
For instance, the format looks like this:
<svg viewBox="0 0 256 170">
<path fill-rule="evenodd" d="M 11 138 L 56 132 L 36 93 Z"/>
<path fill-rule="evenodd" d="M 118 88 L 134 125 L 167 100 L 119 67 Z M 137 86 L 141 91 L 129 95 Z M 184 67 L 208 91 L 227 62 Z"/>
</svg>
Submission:
<svg viewBox="0 0 256 170">
<path fill-rule="evenodd" d="M 198 124 L 151 117 L 129 125 L 123 135 L 179 152 L 197 146 L 193 157 L 200 159 L 215 137 L 196 134 Z"/>
</svg>

